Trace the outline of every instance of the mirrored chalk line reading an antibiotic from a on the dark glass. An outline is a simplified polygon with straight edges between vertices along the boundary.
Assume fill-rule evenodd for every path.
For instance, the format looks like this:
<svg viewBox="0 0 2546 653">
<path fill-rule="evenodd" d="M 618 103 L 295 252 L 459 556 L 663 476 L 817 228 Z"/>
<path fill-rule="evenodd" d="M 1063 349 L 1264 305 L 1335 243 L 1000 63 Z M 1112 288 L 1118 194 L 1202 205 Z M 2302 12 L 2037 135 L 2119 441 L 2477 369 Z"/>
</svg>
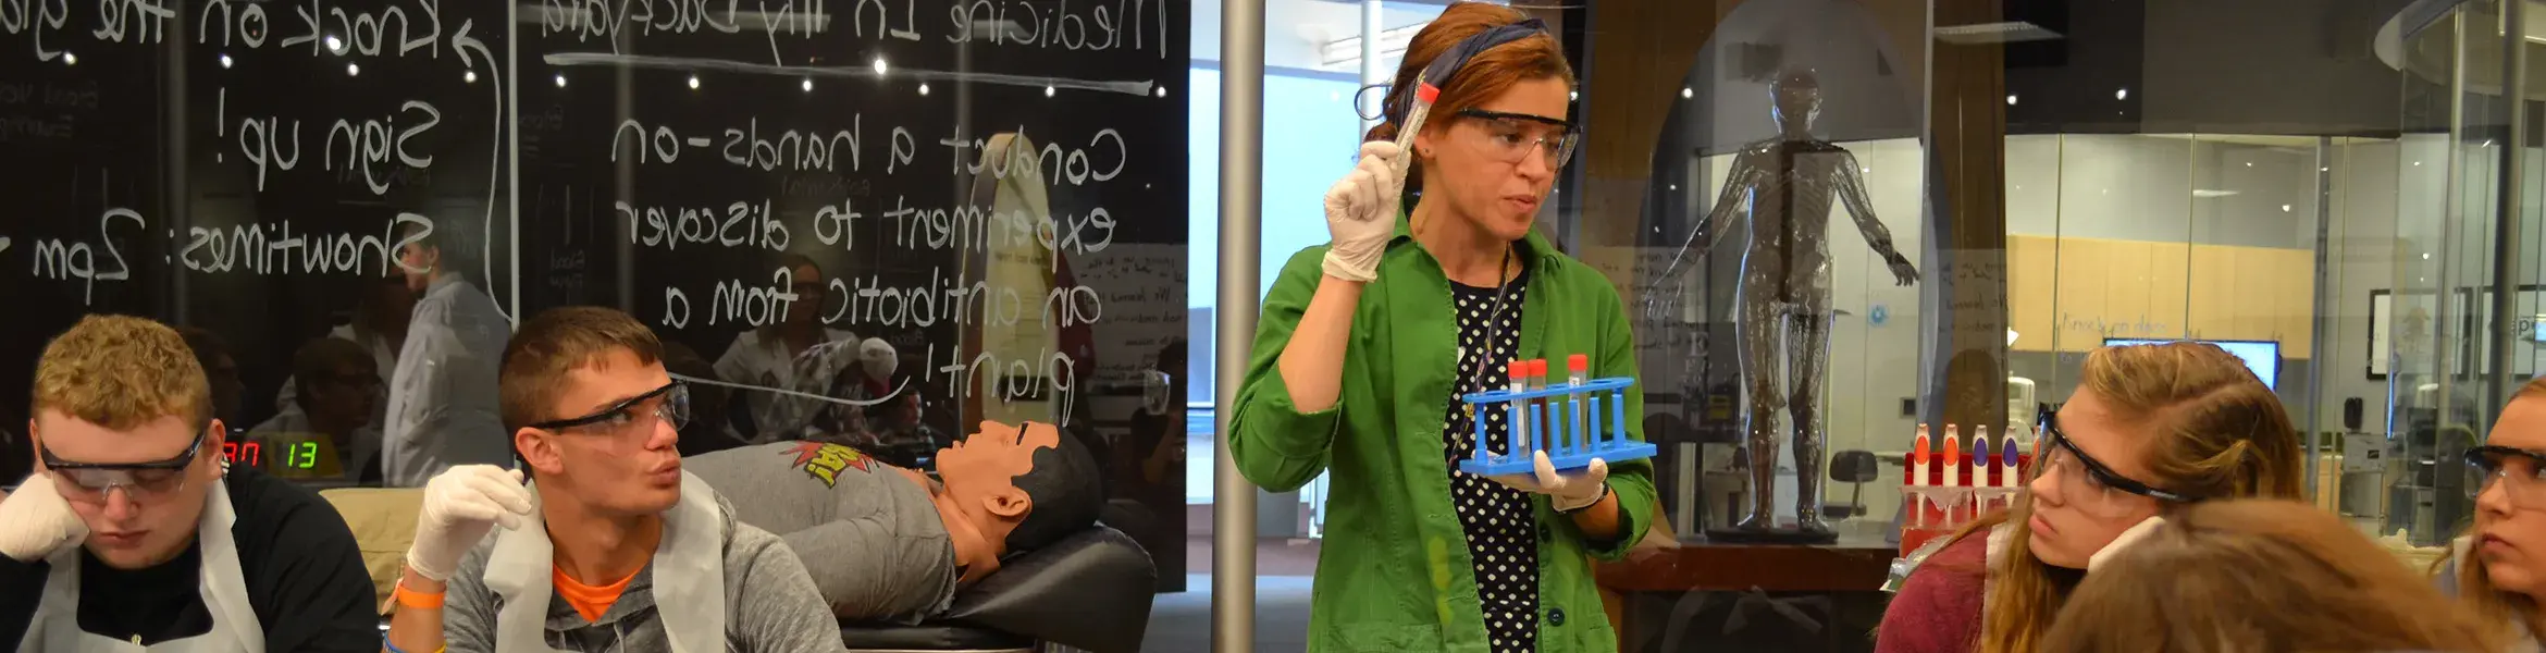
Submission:
<svg viewBox="0 0 2546 653">
<path fill-rule="evenodd" d="M 822 291 L 802 291 L 805 286 Z M 1026 319 L 1034 319 L 1039 329 L 1067 329 L 1105 319 L 1105 296 L 1092 286 L 1018 291 L 965 273 L 947 278 L 942 268 L 932 268 L 919 286 L 894 286 L 883 275 L 797 283 L 794 270 L 779 268 L 769 275 L 769 286 L 728 278 L 713 281 L 713 291 L 705 296 L 708 311 L 700 314 L 690 291 L 665 286 L 657 321 L 672 329 L 687 329 L 693 319 L 705 319 L 703 326 L 769 326 L 787 319 L 797 301 L 812 301 L 810 309 L 822 316 L 822 324 L 845 329 L 919 329 L 937 321 L 1016 326 Z"/>
</svg>

